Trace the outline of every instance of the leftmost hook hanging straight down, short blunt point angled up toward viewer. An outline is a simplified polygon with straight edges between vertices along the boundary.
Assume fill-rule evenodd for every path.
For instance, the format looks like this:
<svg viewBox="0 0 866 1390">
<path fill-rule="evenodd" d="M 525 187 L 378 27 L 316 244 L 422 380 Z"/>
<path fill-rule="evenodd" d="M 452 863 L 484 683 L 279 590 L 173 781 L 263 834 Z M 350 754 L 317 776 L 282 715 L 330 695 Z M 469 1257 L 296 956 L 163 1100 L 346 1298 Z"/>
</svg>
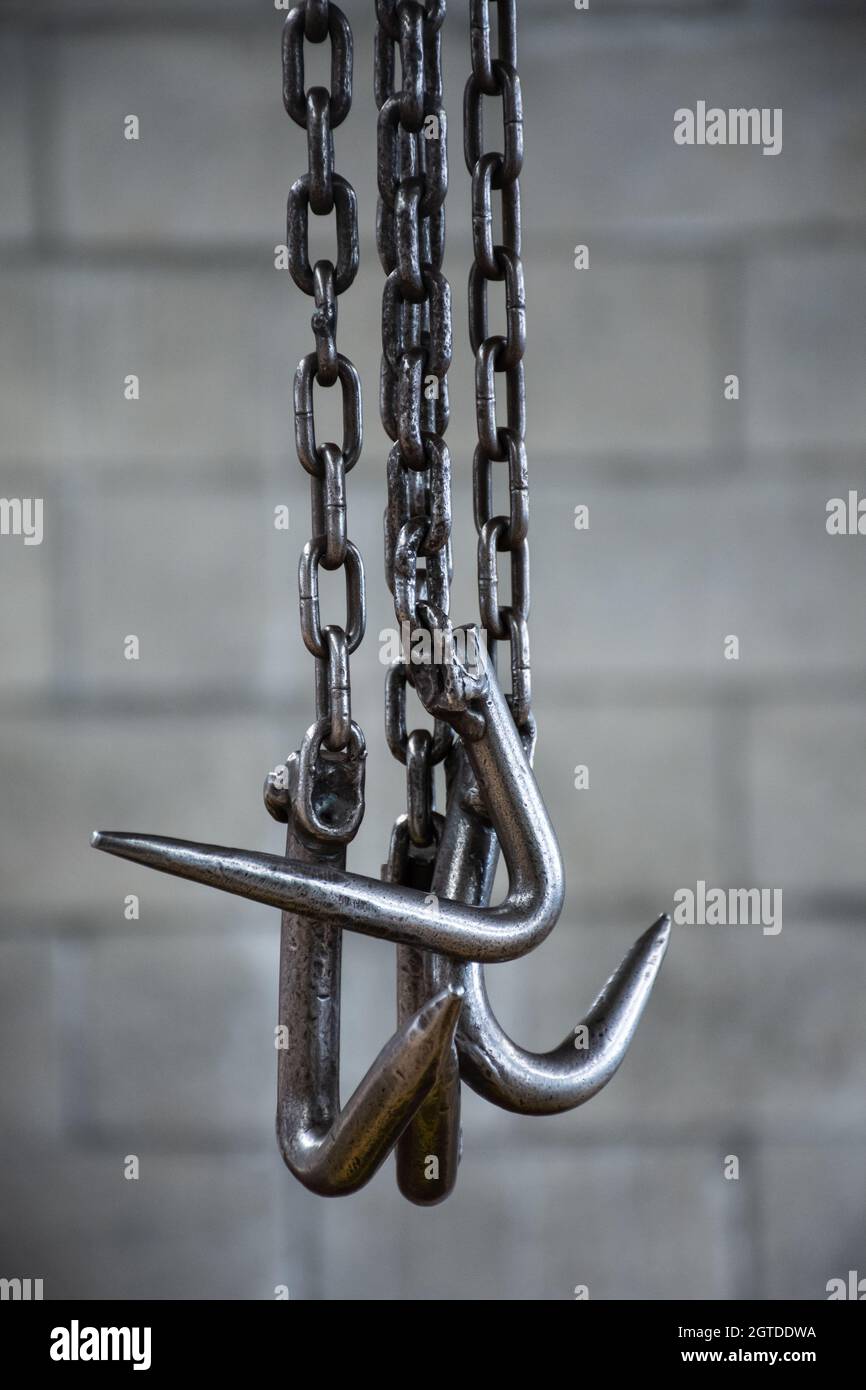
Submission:
<svg viewBox="0 0 866 1390">
<path fill-rule="evenodd" d="M 354 728 L 354 726 L 353 726 Z M 313 726 L 297 753 L 271 773 L 264 802 L 288 823 L 286 855 L 320 872 L 346 866 L 359 827 L 366 748 L 360 730 L 327 755 Z M 320 1197 L 363 1187 L 441 1074 L 456 1070 L 455 1029 L 463 990 L 446 986 L 400 1022 L 346 1106 L 339 1106 L 342 931 L 284 912 L 279 934 L 277 1141 L 286 1168 Z"/>
</svg>

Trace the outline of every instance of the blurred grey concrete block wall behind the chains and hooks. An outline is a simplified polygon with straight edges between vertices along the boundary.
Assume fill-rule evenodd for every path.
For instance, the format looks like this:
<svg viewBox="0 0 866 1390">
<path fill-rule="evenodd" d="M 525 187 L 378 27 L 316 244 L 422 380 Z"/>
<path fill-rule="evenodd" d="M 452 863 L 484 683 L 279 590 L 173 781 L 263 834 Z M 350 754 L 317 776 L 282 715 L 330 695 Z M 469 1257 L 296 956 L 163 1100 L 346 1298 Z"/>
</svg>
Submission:
<svg viewBox="0 0 866 1390">
<path fill-rule="evenodd" d="M 350 862 L 377 873 L 405 792 L 377 641 L 373 4 L 345 8 L 356 97 L 336 168 L 363 263 L 339 335 L 364 382 L 349 514 L 371 748 Z M 467 620 L 468 11 L 449 8 Z M 306 167 L 282 17 L 268 0 L 7 0 L 0 492 L 44 499 L 44 539 L 0 539 L 0 1275 L 43 1277 L 46 1297 L 823 1298 L 866 1275 L 866 539 L 824 525 L 828 498 L 866 491 L 860 7 L 521 8 L 537 766 L 569 898 L 491 992 L 520 1041 L 553 1045 L 699 878 L 781 888 L 783 931 L 677 929 L 628 1059 L 585 1109 L 518 1119 L 464 1093 L 441 1208 L 409 1207 L 391 1163 L 339 1202 L 288 1176 L 277 913 L 88 848 L 103 826 L 281 851 L 261 780 L 311 719 L 291 423 L 310 304 L 274 270 Z M 783 107 L 783 153 L 677 147 L 673 113 L 699 99 Z M 393 1027 L 391 947 L 346 938 L 345 997 L 349 1094 Z"/>
</svg>

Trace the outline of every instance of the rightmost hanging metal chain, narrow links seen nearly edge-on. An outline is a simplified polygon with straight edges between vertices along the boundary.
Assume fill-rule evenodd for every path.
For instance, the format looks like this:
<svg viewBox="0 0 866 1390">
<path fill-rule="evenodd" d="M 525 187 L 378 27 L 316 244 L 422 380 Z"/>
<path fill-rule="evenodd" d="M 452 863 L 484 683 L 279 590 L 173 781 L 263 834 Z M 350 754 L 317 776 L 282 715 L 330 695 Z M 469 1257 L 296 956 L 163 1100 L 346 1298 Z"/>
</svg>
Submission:
<svg viewBox="0 0 866 1390">
<path fill-rule="evenodd" d="M 498 57 L 491 50 L 491 0 L 470 0 L 473 71 L 463 101 L 466 165 L 473 178 L 473 267 L 468 334 L 475 354 L 478 445 L 473 499 L 478 532 L 478 609 L 491 660 L 496 642 L 512 657 L 509 703 L 520 730 L 531 726 L 530 680 L 530 493 L 525 452 L 525 295 L 520 259 L 523 101 L 517 75 L 517 0 L 498 6 Z M 502 101 L 505 150 L 484 150 L 484 97 Z M 502 240 L 493 242 L 493 192 L 500 195 Z M 506 332 L 488 332 L 488 285 L 505 282 Z M 506 423 L 496 424 L 496 377 L 505 377 Z M 493 514 L 493 464 L 507 463 L 509 516 Z M 496 556 L 510 555 L 512 600 L 499 603 Z"/>
</svg>

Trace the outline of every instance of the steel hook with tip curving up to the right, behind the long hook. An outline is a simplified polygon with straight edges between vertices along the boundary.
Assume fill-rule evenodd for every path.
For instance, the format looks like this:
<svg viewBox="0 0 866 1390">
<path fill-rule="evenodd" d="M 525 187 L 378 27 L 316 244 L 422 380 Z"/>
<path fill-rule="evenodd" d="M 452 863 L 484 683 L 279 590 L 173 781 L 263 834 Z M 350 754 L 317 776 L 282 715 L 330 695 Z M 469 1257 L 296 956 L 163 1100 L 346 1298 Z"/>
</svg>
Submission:
<svg viewBox="0 0 866 1390">
<path fill-rule="evenodd" d="M 439 853 L 450 866 L 455 897 L 484 903 L 496 872 L 496 835 L 484 816 L 471 769 L 463 764 L 448 808 Z M 521 1115 L 557 1115 L 591 1099 L 620 1066 L 667 951 L 670 917 L 638 937 L 582 1023 L 552 1052 L 528 1052 L 496 1022 L 473 963 L 438 976 L 463 987 L 457 1027 L 460 1074 L 478 1095 Z"/>
</svg>

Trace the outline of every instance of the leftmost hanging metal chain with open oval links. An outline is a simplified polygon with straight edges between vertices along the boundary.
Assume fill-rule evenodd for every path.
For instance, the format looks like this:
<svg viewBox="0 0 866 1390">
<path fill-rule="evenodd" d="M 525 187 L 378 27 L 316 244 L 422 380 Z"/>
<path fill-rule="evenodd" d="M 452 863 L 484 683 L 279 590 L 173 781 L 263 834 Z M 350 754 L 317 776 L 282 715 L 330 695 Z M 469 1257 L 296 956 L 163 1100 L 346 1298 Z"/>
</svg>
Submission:
<svg viewBox="0 0 866 1390">
<path fill-rule="evenodd" d="M 304 90 L 304 43 L 331 43 L 331 90 Z M 364 566 L 348 537 L 346 474 L 361 452 L 360 378 L 336 346 L 338 296 L 352 285 L 359 267 L 357 199 L 352 185 L 334 170 L 334 131 L 352 106 L 352 29 L 342 10 L 328 0 L 306 0 L 289 11 L 282 31 L 282 99 L 292 120 L 307 132 L 307 172 L 289 190 L 286 245 L 292 279 L 314 300 L 311 318 L 316 348 L 295 373 L 295 445 L 310 474 L 311 538 L 299 564 L 300 631 L 316 659 L 316 724 L 304 738 L 297 764 L 296 813 L 304 828 L 336 841 L 352 838 L 363 815 L 364 737 L 352 719 L 349 657 L 366 627 Z M 336 224 L 336 264 L 310 265 L 309 217 Z M 314 385 L 339 384 L 342 445 L 318 443 Z M 345 626 L 322 626 L 318 571 L 345 571 Z M 353 773 L 352 805 L 329 806 L 322 820 L 314 806 L 313 785 L 327 764 L 342 762 Z"/>
</svg>

